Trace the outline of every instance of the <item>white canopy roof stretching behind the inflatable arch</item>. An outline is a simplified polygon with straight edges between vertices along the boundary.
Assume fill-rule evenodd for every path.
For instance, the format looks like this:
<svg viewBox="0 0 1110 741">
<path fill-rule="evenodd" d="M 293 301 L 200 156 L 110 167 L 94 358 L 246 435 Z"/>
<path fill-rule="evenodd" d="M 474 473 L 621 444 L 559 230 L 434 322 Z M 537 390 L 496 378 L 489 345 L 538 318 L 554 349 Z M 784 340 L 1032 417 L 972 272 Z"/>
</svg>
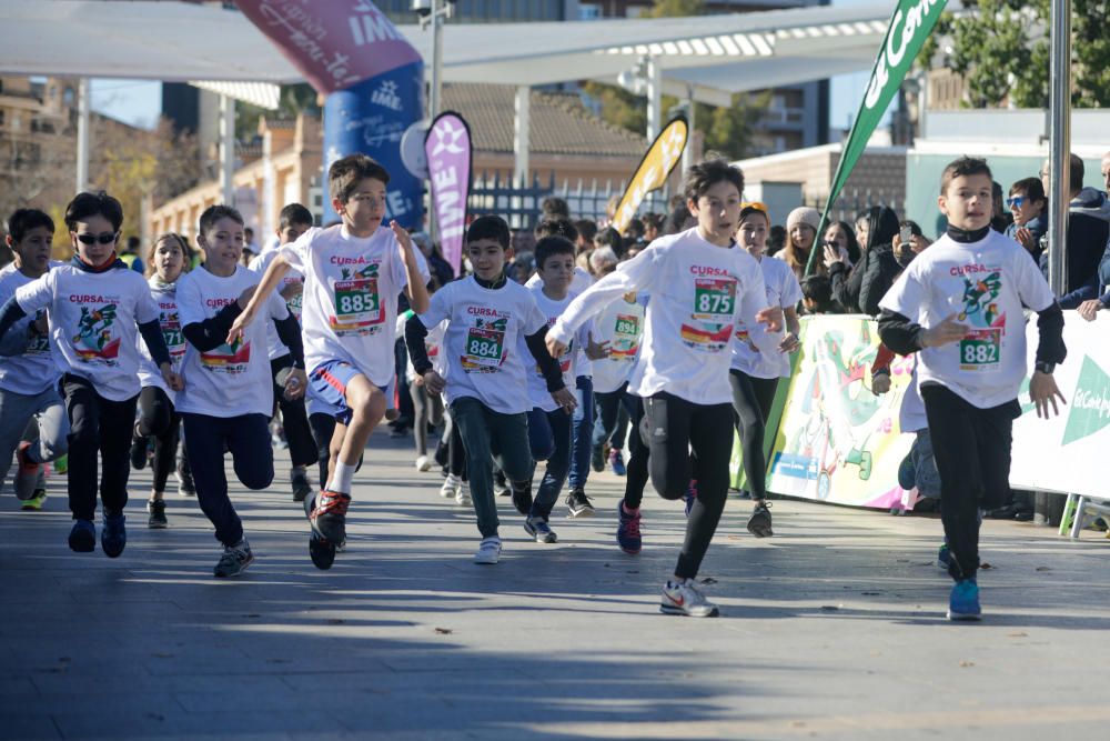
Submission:
<svg viewBox="0 0 1110 741">
<path fill-rule="evenodd" d="M 526 107 L 528 87 L 614 82 L 639 68 L 652 137 L 664 93 L 727 106 L 737 92 L 869 69 L 889 13 L 889 2 L 875 2 L 564 21 L 557 30 L 552 23 L 451 23 L 443 29 L 442 81 L 518 86 L 517 100 Z M 400 28 L 417 49 L 428 44 L 418 27 Z M 264 106 L 276 102 L 276 91 L 259 83 L 304 81 L 242 13 L 142 0 L 3 0 L 0 73 L 193 82 Z M 527 121 L 526 110 L 517 114 L 518 123 Z M 516 169 L 526 172 L 527 127 L 518 130 Z"/>
</svg>

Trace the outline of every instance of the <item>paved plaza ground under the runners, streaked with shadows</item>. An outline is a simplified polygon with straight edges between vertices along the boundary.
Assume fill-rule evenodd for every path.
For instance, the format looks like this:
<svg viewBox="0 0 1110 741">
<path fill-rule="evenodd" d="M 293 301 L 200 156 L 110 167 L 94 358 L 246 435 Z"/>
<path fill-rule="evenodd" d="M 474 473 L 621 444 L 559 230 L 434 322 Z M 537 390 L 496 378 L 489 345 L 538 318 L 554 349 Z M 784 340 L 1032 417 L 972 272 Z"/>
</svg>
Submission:
<svg viewBox="0 0 1110 741">
<path fill-rule="evenodd" d="M 598 513 L 556 510 L 529 542 L 502 499 L 503 560 L 477 567 L 473 512 L 441 499 L 411 441 L 375 434 L 347 551 L 317 571 L 278 483 L 233 489 L 256 561 L 218 581 L 195 500 L 110 560 L 67 548 L 60 477 L 41 513 L 0 498 L 2 739 L 1106 739 L 1110 541 L 988 521 L 986 620 L 944 620 L 925 517 L 776 501 L 776 537 L 730 500 L 700 574 L 716 620 L 658 613 L 680 503 L 648 493 L 643 553 Z M 229 467 L 230 469 L 230 467 Z M 172 480 L 171 480 L 172 482 Z M 98 523 L 99 527 L 99 523 Z"/>
</svg>

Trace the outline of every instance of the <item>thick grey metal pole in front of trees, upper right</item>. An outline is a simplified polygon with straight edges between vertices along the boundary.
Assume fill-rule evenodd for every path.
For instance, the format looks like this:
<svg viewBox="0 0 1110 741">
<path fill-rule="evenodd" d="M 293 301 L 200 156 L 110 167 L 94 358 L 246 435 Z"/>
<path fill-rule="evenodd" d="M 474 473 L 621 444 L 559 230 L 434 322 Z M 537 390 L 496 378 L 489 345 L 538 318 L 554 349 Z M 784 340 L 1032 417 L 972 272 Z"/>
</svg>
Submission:
<svg viewBox="0 0 1110 741">
<path fill-rule="evenodd" d="M 1068 290 L 1068 183 L 1071 177 L 1071 0 L 1052 0 L 1052 63 L 1049 127 L 1048 276 L 1052 291 Z"/>
</svg>

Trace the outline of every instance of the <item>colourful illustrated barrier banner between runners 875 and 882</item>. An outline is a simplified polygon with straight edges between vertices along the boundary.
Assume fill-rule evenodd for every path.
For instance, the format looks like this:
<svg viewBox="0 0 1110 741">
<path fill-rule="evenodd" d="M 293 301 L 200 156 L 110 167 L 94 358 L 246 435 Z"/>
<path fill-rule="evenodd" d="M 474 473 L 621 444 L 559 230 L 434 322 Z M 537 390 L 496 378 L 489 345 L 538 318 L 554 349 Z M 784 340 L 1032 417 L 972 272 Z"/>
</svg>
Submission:
<svg viewBox="0 0 1110 741">
<path fill-rule="evenodd" d="M 896 358 L 891 389 L 877 397 L 870 370 L 878 346 L 866 317 L 801 320 L 801 350 L 768 458 L 770 492 L 856 507 L 902 501 L 898 464 L 914 437 L 899 430 L 898 411 L 914 361 Z"/>
</svg>

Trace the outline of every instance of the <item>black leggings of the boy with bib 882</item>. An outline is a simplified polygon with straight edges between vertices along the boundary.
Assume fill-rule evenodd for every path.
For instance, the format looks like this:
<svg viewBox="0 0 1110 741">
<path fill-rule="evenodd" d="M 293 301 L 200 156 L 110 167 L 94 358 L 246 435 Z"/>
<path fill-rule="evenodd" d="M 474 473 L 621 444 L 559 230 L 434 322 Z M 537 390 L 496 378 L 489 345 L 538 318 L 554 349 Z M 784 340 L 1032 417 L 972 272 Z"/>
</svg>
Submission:
<svg viewBox="0 0 1110 741">
<path fill-rule="evenodd" d="M 1017 400 L 990 409 L 972 407 L 942 385 L 921 387 L 932 455 L 940 474 L 940 520 L 951 553 L 952 579 L 979 569 L 979 509 L 1010 495 L 1010 443 Z"/>
</svg>

